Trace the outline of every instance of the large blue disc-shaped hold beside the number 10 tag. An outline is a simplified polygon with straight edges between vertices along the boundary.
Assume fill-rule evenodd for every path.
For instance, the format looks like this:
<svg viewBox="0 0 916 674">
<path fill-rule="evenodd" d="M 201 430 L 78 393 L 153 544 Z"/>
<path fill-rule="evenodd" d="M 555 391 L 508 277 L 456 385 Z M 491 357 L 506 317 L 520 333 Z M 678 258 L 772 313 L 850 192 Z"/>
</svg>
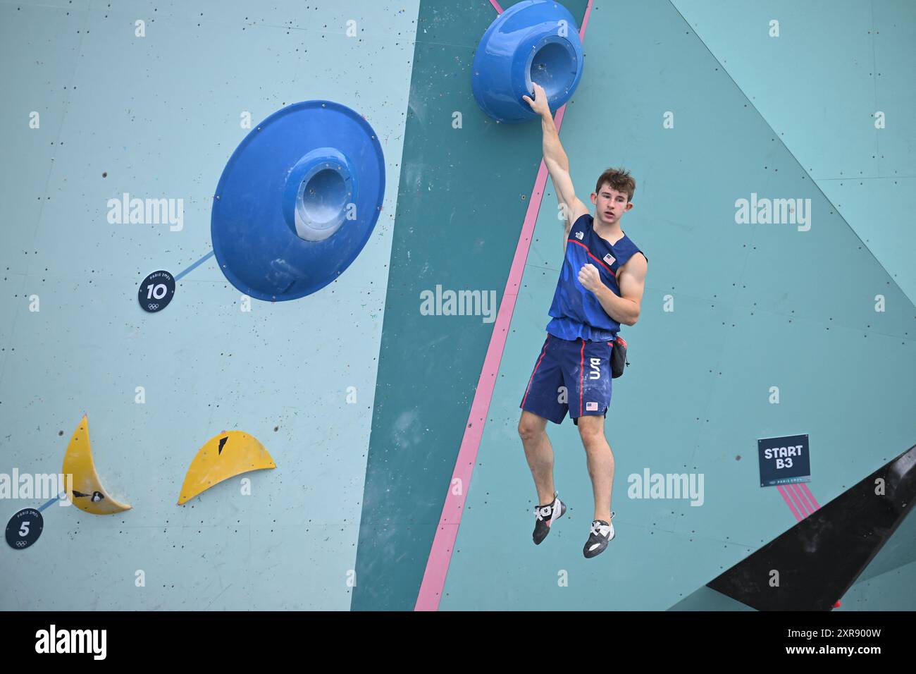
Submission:
<svg viewBox="0 0 916 674">
<path fill-rule="evenodd" d="M 362 116 L 331 101 L 288 105 L 226 163 L 213 199 L 213 252 L 243 293 L 295 300 L 356 259 L 384 195 L 382 147 Z"/>
</svg>

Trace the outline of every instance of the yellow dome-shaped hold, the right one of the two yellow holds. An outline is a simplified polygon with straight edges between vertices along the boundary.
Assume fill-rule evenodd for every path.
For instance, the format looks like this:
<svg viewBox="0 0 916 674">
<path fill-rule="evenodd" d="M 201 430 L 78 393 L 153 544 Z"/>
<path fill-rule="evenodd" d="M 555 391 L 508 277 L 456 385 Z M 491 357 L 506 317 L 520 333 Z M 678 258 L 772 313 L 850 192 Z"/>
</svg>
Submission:
<svg viewBox="0 0 916 674">
<path fill-rule="evenodd" d="M 267 449 L 242 431 L 225 431 L 207 440 L 184 476 L 178 504 L 187 503 L 214 484 L 248 472 L 277 468 Z"/>
</svg>

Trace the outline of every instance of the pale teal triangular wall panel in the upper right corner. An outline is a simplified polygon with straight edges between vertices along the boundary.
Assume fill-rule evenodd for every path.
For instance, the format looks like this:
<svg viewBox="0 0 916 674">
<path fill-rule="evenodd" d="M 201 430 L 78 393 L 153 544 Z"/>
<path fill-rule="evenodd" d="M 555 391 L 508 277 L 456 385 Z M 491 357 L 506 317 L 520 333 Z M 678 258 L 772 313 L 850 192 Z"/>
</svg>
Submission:
<svg viewBox="0 0 916 674">
<path fill-rule="evenodd" d="M 916 6 L 673 0 L 911 302 L 907 223 L 916 204 Z M 770 21 L 779 37 L 770 37 Z M 875 127 L 875 114 L 885 127 Z"/>
</svg>

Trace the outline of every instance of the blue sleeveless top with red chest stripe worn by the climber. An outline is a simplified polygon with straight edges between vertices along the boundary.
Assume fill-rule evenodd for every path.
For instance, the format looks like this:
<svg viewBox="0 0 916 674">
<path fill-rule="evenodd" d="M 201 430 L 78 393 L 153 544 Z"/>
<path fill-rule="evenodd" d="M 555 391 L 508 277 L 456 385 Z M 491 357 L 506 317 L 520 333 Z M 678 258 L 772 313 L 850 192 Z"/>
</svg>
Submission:
<svg viewBox="0 0 916 674">
<path fill-rule="evenodd" d="M 593 224 L 594 217 L 586 213 L 570 227 L 570 236 L 566 239 L 566 256 L 557 280 L 557 290 L 553 293 L 551 310 L 548 312 L 553 318 L 547 324 L 547 332 L 554 337 L 569 340 L 582 337 L 592 342 L 613 341 L 620 330 L 620 324 L 605 313 L 594 293 L 583 288 L 579 282 L 579 270 L 585 263 L 592 263 L 598 268 L 601 282 L 619 297 L 617 271 L 627 264 L 627 260 L 642 251 L 626 233 L 612 246 L 597 235 Z"/>
</svg>

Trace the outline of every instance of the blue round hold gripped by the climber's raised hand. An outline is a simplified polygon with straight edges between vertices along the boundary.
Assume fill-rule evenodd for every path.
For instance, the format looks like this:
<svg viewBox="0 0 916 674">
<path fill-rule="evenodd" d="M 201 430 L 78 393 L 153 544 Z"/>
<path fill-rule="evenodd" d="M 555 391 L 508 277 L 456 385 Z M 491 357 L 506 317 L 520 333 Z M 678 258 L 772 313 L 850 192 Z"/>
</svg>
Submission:
<svg viewBox="0 0 916 674">
<path fill-rule="evenodd" d="M 582 40 L 569 10 L 546 0 L 526 0 L 486 29 L 474 53 L 471 88 L 487 115 L 517 124 L 536 116 L 522 100 L 534 95 L 532 83 L 544 87 L 551 112 L 556 112 L 572 97 L 582 68 Z"/>
</svg>

